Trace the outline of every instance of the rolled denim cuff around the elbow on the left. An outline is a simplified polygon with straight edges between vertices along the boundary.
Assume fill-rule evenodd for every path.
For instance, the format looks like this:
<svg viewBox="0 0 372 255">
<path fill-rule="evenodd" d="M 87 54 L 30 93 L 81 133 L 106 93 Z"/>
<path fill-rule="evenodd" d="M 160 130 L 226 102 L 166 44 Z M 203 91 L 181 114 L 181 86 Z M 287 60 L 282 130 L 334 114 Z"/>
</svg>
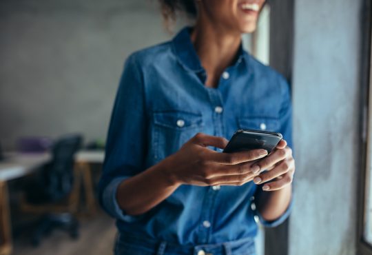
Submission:
<svg viewBox="0 0 372 255">
<path fill-rule="evenodd" d="M 114 218 L 117 218 L 121 221 L 134 222 L 140 220 L 143 217 L 143 214 L 138 216 L 126 214 L 124 210 L 121 210 L 118 205 L 118 201 L 116 200 L 116 190 L 118 189 L 118 185 L 127 178 L 128 177 L 119 177 L 113 179 L 103 191 L 102 203 L 103 207 L 105 207 L 105 210 Z"/>
</svg>

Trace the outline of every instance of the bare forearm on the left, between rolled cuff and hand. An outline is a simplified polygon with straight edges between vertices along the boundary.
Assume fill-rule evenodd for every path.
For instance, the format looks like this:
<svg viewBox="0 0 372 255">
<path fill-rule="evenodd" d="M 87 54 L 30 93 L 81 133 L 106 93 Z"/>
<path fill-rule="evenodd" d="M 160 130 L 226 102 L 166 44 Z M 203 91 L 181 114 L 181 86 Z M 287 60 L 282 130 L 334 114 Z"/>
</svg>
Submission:
<svg viewBox="0 0 372 255">
<path fill-rule="evenodd" d="M 116 199 L 127 214 L 143 214 L 164 201 L 178 186 L 167 174 L 167 162 L 162 161 L 121 182 Z"/>
</svg>

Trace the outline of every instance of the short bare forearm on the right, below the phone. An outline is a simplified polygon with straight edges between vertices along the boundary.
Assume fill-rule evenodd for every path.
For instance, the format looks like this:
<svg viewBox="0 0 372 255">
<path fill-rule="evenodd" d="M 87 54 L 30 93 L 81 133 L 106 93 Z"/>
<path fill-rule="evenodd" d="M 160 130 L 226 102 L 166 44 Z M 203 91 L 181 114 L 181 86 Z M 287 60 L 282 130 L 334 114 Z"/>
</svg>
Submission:
<svg viewBox="0 0 372 255">
<path fill-rule="evenodd" d="M 265 221 L 274 221 L 285 213 L 292 196 L 292 185 L 280 190 L 265 192 L 258 190 L 256 206 Z"/>
</svg>

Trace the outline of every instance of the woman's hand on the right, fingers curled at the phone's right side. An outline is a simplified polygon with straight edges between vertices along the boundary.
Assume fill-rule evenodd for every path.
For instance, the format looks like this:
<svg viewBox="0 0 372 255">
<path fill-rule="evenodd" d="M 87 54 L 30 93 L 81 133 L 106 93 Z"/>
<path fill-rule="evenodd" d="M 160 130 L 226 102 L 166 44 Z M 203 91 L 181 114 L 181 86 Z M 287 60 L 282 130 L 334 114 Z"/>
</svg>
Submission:
<svg viewBox="0 0 372 255">
<path fill-rule="evenodd" d="M 280 190 L 290 185 L 293 181 L 295 161 L 292 156 L 292 150 L 287 146 L 285 140 L 281 140 L 276 146 L 276 149 L 269 156 L 265 157 L 265 159 L 258 161 L 256 165 L 259 165 L 261 170 L 267 170 L 260 172 L 260 174 L 254 177 L 254 183 L 265 183 L 262 190 Z"/>
</svg>

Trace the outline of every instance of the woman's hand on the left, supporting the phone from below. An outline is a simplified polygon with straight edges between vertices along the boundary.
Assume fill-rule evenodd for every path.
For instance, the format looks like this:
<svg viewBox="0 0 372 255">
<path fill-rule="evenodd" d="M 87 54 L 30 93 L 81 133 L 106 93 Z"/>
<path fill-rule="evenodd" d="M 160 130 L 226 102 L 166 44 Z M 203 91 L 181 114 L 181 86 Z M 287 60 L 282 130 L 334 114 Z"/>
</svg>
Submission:
<svg viewBox="0 0 372 255">
<path fill-rule="evenodd" d="M 207 147 L 224 149 L 227 143 L 223 137 L 196 134 L 163 162 L 172 183 L 209 186 L 243 185 L 252 181 L 260 172 L 258 165 L 252 165 L 266 156 L 267 151 L 221 153 Z"/>
</svg>

